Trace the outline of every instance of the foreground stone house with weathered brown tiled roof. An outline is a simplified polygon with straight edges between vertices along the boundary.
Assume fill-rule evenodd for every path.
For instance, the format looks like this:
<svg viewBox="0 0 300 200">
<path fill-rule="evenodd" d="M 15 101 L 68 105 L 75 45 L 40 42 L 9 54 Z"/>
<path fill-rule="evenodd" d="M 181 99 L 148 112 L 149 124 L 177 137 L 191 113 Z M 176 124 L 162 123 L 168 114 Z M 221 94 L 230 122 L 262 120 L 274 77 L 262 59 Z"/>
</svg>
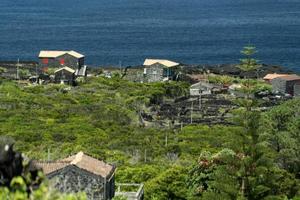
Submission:
<svg viewBox="0 0 300 200">
<path fill-rule="evenodd" d="M 115 195 L 115 167 L 83 152 L 54 162 L 35 162 L 51 187 L 63 193 L 85 192 L 89 200 L 110 200 Z"/>
</svg>

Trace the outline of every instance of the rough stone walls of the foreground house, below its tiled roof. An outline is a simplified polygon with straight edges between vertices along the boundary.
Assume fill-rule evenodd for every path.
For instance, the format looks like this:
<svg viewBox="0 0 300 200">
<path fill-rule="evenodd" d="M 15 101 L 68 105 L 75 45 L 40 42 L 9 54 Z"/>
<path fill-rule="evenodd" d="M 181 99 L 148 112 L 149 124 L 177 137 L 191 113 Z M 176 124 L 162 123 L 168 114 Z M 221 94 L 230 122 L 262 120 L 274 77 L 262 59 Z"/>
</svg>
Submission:
<svg viewBox="0 0 300 200">
<path fill-rule="evenodd" d="M 105 184 L 103 177 L 76 166 L 67 166 L 47 177 L 50 180 L 50 186 L 63 193 L 85 192 L 89 200 L 110 200 L 114 196 L 114 177 L 111 179 L 113 183 Z"/>
</svg>

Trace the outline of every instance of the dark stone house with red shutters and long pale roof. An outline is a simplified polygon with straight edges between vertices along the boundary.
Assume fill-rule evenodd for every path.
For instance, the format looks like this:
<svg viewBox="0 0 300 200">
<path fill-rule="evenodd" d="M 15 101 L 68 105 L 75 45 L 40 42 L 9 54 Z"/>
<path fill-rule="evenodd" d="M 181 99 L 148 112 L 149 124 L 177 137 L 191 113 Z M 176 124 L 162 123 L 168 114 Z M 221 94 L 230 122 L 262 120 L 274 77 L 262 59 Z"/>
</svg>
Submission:
<svg viewBox="0 0 300 200">
<path fill-rule="evenodd" d="M 40 51 L 39 66 L 47 70 L 49 67 L 69 66 L 73 69 L 80 69 L 84 66 L 84 55 L 76 51 Z"/>
</svg>

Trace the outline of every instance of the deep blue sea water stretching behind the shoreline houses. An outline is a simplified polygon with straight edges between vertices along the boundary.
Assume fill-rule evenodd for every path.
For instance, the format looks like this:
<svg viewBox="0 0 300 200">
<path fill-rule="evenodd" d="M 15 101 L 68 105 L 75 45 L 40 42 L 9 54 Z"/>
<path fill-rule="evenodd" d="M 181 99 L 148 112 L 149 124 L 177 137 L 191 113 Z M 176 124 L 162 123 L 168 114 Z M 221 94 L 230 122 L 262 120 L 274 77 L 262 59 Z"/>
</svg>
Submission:
<svg viewBox="0 0 300 200">
<path fill-rule="evenodd" d="M 0 0 L 0 60 L 73 49 L 91 65 L 167 58 L 300 67 L 300 0 Z"/>
</svg>

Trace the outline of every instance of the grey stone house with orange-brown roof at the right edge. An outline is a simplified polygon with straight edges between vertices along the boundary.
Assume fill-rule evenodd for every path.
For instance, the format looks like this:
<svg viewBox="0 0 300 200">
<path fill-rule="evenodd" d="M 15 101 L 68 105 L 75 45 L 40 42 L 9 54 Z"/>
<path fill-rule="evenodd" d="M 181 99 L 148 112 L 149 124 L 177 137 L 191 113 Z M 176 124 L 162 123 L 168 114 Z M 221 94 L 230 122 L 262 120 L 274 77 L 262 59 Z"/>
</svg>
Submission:
<svg viewBox="0 0 300 200">
<path fill-rule="evenodd" d="M 294 88 L 295 85 L 300 84 L 300 76 L 291 74 L 274 78 L 270 82 L 274 92 L 280 92 L 294 96 Z"/>
</svg>

